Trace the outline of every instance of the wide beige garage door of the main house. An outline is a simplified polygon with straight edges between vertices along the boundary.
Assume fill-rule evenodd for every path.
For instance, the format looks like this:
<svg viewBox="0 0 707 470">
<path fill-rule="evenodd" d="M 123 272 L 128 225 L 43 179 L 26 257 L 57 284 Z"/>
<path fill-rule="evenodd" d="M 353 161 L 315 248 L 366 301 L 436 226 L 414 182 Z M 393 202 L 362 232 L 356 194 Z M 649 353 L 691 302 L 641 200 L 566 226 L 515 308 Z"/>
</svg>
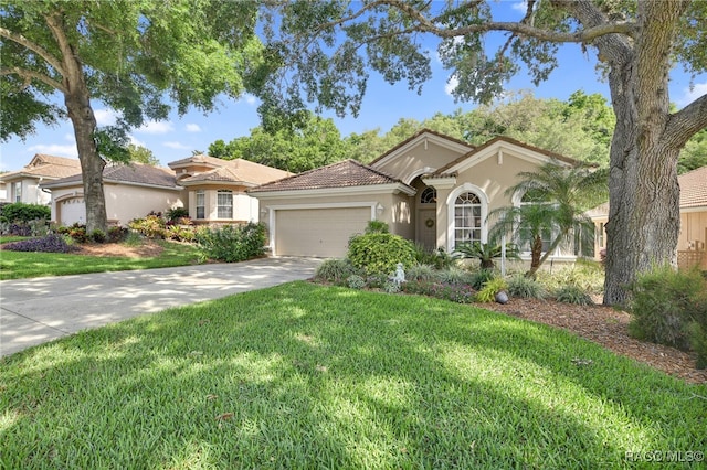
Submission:
<svg viewBox="0 0 707 470">
<path fill-rule="evenodd" d="M 349 237 L 363 233 L 370 220 L 370 207 L 278 210 L 275 254 L 342 258 Z"/>
</svg>

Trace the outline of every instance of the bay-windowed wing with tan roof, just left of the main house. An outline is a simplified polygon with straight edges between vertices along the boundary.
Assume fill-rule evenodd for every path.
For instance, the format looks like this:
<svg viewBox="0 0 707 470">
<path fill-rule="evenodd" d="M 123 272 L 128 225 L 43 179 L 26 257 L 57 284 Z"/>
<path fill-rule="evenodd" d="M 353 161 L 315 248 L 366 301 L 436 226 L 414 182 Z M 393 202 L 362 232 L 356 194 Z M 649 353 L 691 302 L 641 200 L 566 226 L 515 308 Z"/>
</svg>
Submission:
<svg viewBox="0 0 707 470">
<path fill-rule="evenodd" d="M 197 224 L 258 222 L 258 202 L 246 190 L 292 175 L 249 160 L 203 154 L 168 164 L 188 193 L 189 216 Z"/>
</svg>

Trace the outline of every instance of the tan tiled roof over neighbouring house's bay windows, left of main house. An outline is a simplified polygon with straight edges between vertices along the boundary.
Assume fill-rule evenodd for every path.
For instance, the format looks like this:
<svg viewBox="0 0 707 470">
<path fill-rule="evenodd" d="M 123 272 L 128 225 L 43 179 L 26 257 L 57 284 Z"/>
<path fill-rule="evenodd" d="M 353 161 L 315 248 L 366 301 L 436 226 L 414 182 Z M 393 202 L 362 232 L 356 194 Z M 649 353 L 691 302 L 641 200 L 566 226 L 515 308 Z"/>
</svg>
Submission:
<svg viewBox="0 0 707 470">
<path fill-rule="evenodd" d="M 169 163 L 177 170 L 193 165 L 211 167 L 212 170 L 188 175 L 180 180 L 184 185 L 197 183 L 231 182 L 255 186 L 292 175 L 291 172 L 244 159 L 223 160 L 204 154 L 193 156 Z"/>
</svg>

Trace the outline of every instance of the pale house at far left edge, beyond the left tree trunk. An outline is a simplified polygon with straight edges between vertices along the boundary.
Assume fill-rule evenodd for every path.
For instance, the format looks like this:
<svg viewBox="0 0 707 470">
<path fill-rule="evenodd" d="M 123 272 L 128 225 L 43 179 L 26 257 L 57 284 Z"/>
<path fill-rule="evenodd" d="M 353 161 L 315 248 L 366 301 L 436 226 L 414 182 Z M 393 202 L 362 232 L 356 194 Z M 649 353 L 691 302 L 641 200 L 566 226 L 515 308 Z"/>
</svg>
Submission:
<svg viewBox="0 0 707 470">
<path fill-rule="evenodd" d="M 22 170 L 0 174 L 0 184 L 4 185 L 7 202 L 46 205 L 51 195 L 40 184 L 74 174 L 81 174 L 77 159 L 38 153 Z"/>
</svg>

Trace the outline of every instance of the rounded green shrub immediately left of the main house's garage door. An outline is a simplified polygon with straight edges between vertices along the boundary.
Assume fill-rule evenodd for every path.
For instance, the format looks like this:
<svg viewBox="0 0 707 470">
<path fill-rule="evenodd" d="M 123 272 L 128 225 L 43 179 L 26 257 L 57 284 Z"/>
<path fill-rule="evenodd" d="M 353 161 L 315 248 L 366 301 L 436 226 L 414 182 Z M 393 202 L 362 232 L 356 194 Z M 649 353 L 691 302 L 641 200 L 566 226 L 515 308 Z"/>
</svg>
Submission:
<svg viewBox="0 0 707 470">
<path fill-rule="evenodd" d="M 257 258 L 265 253 L 265 225 L 224 225 L 197 232 L 197 244 L 210 259 L 238 263 Z"/>
</svg>

